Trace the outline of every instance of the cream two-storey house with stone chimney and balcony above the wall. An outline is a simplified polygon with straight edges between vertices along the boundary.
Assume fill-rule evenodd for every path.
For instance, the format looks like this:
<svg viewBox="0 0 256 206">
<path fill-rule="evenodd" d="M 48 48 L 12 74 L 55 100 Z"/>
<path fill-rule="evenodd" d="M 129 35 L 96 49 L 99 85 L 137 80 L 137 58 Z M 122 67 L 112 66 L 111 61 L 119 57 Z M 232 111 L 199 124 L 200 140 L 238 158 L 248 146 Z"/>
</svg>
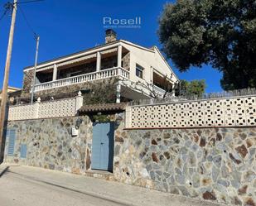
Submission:
<svg viewBox="0 0 256 206">
<path fill-rule="evenodd" d="M 109 29 L 104 45 L 37 65 L 36 96 L 77 93 L 88 89 L 91 82 L 110 78 L 119 79 L 117 102 L 120 98 L 148 98 L 152 93 L 161 96 L 167 88 L 171 91 L 178 79 L 157 46 L 146 48 L 116 37 L 115 31 Z M 34 66 L 24 69 L 23 97 L 30 97 L 33 73 Z"/>
</svg>

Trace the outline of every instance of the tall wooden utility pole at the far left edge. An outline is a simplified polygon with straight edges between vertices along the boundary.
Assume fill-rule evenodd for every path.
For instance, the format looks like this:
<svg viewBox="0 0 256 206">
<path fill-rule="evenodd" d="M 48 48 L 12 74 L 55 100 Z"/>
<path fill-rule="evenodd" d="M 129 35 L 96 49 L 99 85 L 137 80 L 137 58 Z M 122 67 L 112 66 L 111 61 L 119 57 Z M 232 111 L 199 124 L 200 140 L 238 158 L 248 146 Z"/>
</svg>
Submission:
<svg viewBox="0 0 256 206">
<path fill-rule="evenodd" d="M 4 70 L 4 80 L 2 84 L 2 101 L 1 101 L 1 110 L 0 110 L 0 162 L 2 160 L 2 155 L 4 151 L 4 146 L 2 144 L 3 140 L 3 132 L 4 132 L 4 123 L 6 117 L 6 108 L 7 108 L 7 87 L 8 87 L 8 79 L 9 79 L 9 71 L 10 71 L 10 63 L 11 63 L 11 56 L 12 56 L 12 42 L 13 42 L 13 33 L 14 33 L 14 26 L 16 20 L 16 12 L 17 12 L 17 0 L 13 1 L 12 7 L 12 22 L 11 28 L 9 33 L 9 41 L 7 46 L 7 59 L 5 63 L 5 70 Z"/>
</svg>

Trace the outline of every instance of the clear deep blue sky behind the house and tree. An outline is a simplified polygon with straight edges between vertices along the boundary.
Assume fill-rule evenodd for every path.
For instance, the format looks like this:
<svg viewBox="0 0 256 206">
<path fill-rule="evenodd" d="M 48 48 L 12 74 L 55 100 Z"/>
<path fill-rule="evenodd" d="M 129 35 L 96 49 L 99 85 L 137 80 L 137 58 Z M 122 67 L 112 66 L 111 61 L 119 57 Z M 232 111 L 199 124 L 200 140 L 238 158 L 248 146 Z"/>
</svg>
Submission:
<svg viewBox="0 0 256 206">
<path fill-rule="evenodd" d="M 27 0 L 19 0 L 27 1 Z M 0 1 L 0 14 L 3 4 Z M 118 39 L 132 41 L 141 46 L 158 46 L 162 48 L 157 37 L 157 19 L 166 0 L 45 0 L 21 4 L 22 10 L 34 31 L 41 36 L 38 61 L 51 60 L 61 55 L 94 47 L 104 43 L 103 17 L 142 18 L 141 28 L 119 28 Z M 7 15 L 0 21 L 0 86 L 6 60 L 7 40 L 11 17 Z M 34 64 L 36 42 L 31 30 L 17 11 L 17 22 L 12 48 L 12 63 L 9 85 L 22 87 L 22 69 Z M 206 92 L 218 92 L 221 74 L 210 66 L 201 69 L 192 68 L 180 73 L 171 64 L 180 79 L 205 79 Z"/>
</svg>

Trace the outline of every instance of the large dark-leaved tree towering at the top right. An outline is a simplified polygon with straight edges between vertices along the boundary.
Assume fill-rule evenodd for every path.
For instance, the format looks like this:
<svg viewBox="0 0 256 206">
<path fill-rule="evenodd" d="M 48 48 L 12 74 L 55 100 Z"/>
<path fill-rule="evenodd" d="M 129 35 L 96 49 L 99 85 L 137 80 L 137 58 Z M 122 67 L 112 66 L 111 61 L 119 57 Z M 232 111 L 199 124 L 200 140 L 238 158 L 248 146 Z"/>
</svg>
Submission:
<svg viewBox="0 0 256 206">
<path fill-rule="evenodd" d="M 159 39 L 180 71 L 212 65 L 223 89 L 256 87 L 256 1 L 177 0 L 159 21 Z"/>
</svg>

